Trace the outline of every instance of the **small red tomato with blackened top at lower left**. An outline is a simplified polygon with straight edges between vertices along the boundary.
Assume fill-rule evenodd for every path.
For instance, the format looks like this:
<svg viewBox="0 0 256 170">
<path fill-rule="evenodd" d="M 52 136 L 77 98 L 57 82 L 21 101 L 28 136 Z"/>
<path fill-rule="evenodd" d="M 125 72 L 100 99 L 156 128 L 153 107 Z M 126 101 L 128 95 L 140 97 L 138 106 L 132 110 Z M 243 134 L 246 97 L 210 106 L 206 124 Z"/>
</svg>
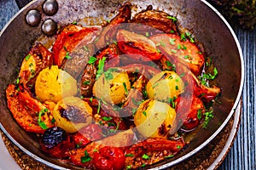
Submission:
<svg viewBox="0 0 256 170">
<path fill-rule="evenodd" d="M 61 127 L 47 129 L 40 140 L 42 150 L 56 158 L 68 156 L 68 150 L 73 150 L 73 143 L 70 137 Z"/>
</svg>

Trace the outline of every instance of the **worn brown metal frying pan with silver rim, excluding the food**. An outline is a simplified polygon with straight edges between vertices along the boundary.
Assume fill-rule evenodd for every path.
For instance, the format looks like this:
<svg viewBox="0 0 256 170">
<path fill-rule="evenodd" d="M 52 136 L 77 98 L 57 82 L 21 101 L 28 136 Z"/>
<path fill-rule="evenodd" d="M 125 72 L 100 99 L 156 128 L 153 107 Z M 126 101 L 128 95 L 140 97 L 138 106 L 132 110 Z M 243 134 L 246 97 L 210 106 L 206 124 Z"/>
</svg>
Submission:
<svg viewBox="0 0 256 170">
<path fill-rule="evenodd" d="M 26 14 L 30 9 L 38 9 L 42 14 L 42 21 L 51 18 L 57 22 L 58 26 L 83 18 L 97 23 L 97 17 L 102 17 L 105 20 L 111 19 L 111 16 L 113 16 L 111 12 L 117 11 L 120 4 L 123 4 L 125 1 L 57 1 L 59 3 L 59 10 L 54 16 L 44 14 L 42 9 L 44 0 L 32 1 L 32 3 L 27 4 L 25 8 L 22 8 L 15 15 L 14 19 L 3 28 L 0 34 L 0 127 L 21 150 L 24 150 L 36 160 L 49 165 L 49 167 L 79 169 L 79 167 L 62 163 L 42 153 L 39 148 L 38 138 L 32 133 L 26 133 L 13 119 L 7 108 L 5 89 L 9 83 L 14 82 L 17 76 L 16 69 L 19 68 L 22 58 L 32 47 L 32 43 L 38 37 L 44 37 L 40 28 L 41 24 L 36 27 L 27 26 Z M 172 159 L 166 159 L 150 166 L 152 168 L 170 167 L 192 156 L 207 145 L 218 135 L 235 112 L 241 97 L 244 81 L 241 47 L 228 23 L 206 1 L 148 0 L 147 3 L 144 3 L 138 0 L 131 0 L 130 2 L 137 5 L 137 12 L 152 4 L 154 9 L 160 9 L 177 16 L 178 23 L 192 31 L 196 41 L 204 44 L 207 54 L 213 56 L 212 60 L 218 68 L 216 82 L 218 87 L 222 88 L 222 95 L 219 99 L 221 105 L 214 106 L 214 119 L 210 122 L 207 129 L 199 129 L 188 147 L 180 154 Z"/>
</svg>

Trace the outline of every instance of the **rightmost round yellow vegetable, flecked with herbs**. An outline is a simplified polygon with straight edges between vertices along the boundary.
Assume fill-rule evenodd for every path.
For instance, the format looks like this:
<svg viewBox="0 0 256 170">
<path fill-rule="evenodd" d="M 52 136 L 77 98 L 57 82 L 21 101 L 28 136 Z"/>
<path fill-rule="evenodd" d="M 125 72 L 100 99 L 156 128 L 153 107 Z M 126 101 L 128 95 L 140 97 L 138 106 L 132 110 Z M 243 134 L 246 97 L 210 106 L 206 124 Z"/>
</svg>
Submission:
<svg viewBox="0 0 256 170">
<path fill-rule="evenodd" d="M 184 91 L 183 80 L 173 71 L 162 71 L 152 77 L 146 86 L 148 98 L 167 101 Z"/>
</svg>

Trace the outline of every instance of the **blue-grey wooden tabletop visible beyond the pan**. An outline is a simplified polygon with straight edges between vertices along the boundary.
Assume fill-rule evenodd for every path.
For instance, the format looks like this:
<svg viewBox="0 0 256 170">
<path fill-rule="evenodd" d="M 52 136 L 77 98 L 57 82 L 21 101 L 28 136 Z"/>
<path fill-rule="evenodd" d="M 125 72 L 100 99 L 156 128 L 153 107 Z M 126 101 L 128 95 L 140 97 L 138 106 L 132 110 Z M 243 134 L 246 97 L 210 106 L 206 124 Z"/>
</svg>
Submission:
<svg viewBox="0 0 256 170">
<path fill-rule="evenodd" d="M 18 12 L 15 0 L 0 0 L 0 30 Z M 256 169 L 256 28 L 244 31 L 234 26 L 245 61 L 241 125 L 234 145 L 219 170 Z M 1 169 L 1 168 L 0 168 Z"/>
</svg>

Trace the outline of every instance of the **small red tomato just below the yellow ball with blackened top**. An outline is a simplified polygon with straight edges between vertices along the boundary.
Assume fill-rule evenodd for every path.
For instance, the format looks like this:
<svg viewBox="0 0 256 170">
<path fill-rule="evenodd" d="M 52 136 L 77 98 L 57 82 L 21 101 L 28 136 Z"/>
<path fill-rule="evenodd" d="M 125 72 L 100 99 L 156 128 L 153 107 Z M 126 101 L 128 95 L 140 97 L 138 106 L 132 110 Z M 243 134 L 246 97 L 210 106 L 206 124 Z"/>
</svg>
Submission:
<svg viewBox="0 0 256 170">
<path fill-rule="evenodd" d="M 84 147 L 89 144 L 90 141 L 102 139 L 102 128 L 96 124 L 90 124 L 87 127 L 83 127 L 78 133 L 73 135 L 73 142 L 77 148 Z"/>
</svg>

